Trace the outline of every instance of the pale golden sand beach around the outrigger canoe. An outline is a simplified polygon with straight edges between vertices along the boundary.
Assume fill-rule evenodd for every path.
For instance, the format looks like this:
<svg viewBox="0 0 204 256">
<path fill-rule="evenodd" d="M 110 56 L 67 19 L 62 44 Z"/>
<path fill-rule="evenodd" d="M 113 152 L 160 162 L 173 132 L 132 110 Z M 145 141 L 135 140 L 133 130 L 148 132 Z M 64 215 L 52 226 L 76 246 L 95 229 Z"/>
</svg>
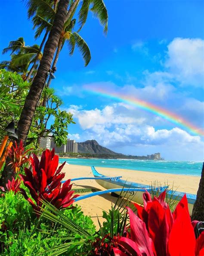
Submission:
<svg viewBox="0 0 204 256">
<path fill-rule="evenodd" d="M 107 176 L 123 176 L 122 179 L 127 179 L 129 181 L 134 181 L 146 185 L 150 185 L 151 182 L 157 181 L 161 182 L 161 185 L 168 184 L 170 187 L 173 186 L 174 190 L 176 189 L 177 191 L 188 192 L 192 194 L 197 193 L 200 181 L 199 176 L 151 173 L 145 171 L 104 167 L 97 167 L 96 170 L 98 170 L 99 173 Z M 77 177 L 93 177 L 90 166 L 65 164 L 62 171 L 65 172 L 65 180 Z M 76 181 L 74 182 L 73 188 L 97 188 L 101 190 L 104 189 L 93 179 Z M 111 196 L 110 194 L 105 194 L 102 196 L 95 196 L 92 198 L 84 199 L 78 202 L 78 205 L 81 206 L 84 214 L 90 215 L 94 221 L 94 224 L 99 227 L 97 215 L 99 217 L 99 220 L 102 221 L 102 210 L 108 211 L 108 209 L 111 208 L 111 203 L 114 204 L 116 200 L 117 198 Z"/>
</svg>

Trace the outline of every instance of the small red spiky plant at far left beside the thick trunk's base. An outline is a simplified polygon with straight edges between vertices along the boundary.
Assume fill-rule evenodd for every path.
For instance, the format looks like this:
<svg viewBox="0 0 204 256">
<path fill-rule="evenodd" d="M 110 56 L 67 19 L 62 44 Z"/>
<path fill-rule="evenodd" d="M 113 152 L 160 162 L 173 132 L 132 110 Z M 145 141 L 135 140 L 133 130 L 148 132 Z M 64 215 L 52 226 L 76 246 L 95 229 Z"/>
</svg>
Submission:
<svg viewBox="0 0 204 256">
<path fill-rule="evenodd" d="M 12 169 L 15 173 L 17 173 L 20 169 L 20 167 L 24 163 L 28 163 L 29 159 L 26 157 L 26 154 L 31 151 L 32 148 L 29 148 L 28 150 L 24 151 L 23 142 L 20 141 L 19 146 L 17 145 L 15 141 L 15 146 L 12 145 L 12 147 L 8 151 L 8 157 L 10 159 L 10 162 L 8 165 L 12 165 Z"/>
</svg>

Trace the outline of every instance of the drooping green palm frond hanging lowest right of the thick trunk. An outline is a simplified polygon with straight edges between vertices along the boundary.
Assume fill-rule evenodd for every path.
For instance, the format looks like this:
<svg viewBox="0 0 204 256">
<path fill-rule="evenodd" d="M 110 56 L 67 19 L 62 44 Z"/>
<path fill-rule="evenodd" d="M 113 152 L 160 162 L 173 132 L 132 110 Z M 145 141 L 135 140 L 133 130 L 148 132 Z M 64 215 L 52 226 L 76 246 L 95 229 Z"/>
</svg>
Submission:
<svg viewBox="0 0 204 256">
<path fill-rule="evenodd" d="M 70 55 L 73 54 L 74 46 L 76 44 L 77 47 L 79 48 L 81 54 L 82 54 L 83 60 L 85 62 L 85 67 L 86 67 L 89 64 L 90 60 L 91 60 L 91 52 L 90 52 L 90 48 L 87 45 L 87 43 L 76 32 L 71 33 L 70 40 L 68 40 L 68 42 L 69 42 L 69 45 L 71 45 L 71 47 L 70 47 Z"/>
</svg>

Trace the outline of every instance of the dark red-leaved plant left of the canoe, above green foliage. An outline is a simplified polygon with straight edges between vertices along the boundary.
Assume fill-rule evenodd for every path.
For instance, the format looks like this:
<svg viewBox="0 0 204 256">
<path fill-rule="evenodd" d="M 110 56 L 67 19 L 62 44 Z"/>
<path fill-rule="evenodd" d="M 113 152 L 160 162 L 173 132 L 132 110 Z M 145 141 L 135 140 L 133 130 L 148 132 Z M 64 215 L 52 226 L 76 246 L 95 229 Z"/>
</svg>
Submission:
<svg viewBox="0 0 204 256">
<path fill-rule="evenodd" d="M 28 197 L 24 189 L 20 189 L 22 195 L 31 204 L 36 211 L 40 211 L 43 205 L 42 200 L 46 200 L 54 205 L 56 208 L 66 208 L 74 202 L 74 198 L 79 195 L 73 195 L 74 191 L 71 190 L 72 184 L 68 179 L 62 185 L 62 179 L 65 173 L 60 173 L 65 163 L 58 167 L 59 157 L 55 155 L 55 150 L 46 149 L 43 151 L 40 161 L 37 156 L 33 154 L 30 158 L 32 165 L 32 172 L 25 168 L 25 175 L 20 175 L 24 185 L 29 189 L 31 197 Z"/>
</svg>

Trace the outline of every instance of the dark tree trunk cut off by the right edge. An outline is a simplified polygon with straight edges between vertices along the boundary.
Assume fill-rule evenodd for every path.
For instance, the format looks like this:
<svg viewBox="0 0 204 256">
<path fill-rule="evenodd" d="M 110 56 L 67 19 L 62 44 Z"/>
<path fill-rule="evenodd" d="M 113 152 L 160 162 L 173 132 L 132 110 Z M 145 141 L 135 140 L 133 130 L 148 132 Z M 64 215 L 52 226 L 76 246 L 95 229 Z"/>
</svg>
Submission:
<svg viewBox="0 0 204 256">
<path fill-rule="evenodd" d="M 201 180 L 198 187 L 197 198 L 193 206 L 192 221 L 204 221 L 204 163 Z"/>
</svg>

